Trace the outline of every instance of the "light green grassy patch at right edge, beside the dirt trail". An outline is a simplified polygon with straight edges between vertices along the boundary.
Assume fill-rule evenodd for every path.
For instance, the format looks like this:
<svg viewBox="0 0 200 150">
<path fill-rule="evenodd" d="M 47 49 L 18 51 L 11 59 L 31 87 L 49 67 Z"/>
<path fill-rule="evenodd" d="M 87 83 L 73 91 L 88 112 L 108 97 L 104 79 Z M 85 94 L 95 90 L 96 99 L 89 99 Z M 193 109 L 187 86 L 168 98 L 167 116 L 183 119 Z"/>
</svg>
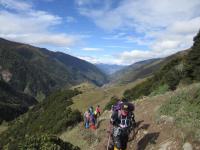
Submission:
<svg viewBox="0 0 200 150">
<path fill-rule="evenodd" d="M 159 108 L 159 115 L 174 117 L 176 124 L 180 127 L 199 129 L 200 85 L 193 85 L 172 96 Z"/>
</svg>

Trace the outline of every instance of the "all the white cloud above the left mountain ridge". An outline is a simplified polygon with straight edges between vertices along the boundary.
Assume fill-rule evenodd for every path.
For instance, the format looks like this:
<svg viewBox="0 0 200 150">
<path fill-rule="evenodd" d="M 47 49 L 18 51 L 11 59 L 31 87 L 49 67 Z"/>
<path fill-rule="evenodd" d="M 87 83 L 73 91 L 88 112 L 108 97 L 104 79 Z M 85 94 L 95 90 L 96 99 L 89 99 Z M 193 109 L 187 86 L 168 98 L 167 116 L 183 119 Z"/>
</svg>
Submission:
<svg viewBox="0 0 200 150">
<path fill-rule="evenodd" d="M 4 10 L 0 11 L 0 36 L 3 38 L 36 46 L 59 47 L 77 44 L 83 38 L 81 35 L 50 32 L 50 29 L 63 22 L 63 18 L 34 10 L 29 3 L 21 0 L 0 0 L 0 4 L 7 4 Z M 8 11 L 7 7 L 18 11 Z"/>
</svg>

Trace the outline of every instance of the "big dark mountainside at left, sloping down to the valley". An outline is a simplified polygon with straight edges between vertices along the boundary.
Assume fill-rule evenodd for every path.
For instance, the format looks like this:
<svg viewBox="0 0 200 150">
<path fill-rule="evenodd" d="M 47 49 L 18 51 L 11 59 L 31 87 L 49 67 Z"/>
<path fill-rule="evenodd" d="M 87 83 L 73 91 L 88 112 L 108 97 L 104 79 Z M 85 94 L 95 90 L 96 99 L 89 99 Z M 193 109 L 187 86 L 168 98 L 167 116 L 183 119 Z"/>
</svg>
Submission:
<svg viewBox="0 0 200 150">
<path fill-rule="evenodd" d="M 63 86 L 107 82 L 98 68 L 84 60 L 4 39 L 0 39 L 0 75 L 14 88 L 37 99 Z"/>
</svg>

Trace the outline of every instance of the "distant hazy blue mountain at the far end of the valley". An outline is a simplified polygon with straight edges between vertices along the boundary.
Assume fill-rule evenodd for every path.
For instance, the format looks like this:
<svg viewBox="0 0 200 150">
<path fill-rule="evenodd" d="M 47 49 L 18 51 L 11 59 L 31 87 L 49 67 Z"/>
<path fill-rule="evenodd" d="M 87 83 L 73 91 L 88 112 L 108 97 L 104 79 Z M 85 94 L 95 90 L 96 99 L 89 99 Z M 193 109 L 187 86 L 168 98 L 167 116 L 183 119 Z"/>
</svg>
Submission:
<svg viewBox="0 0 200 150">
<path fill-rule="evenodd" d="M 95 65 L 107 75 L 111 75 L 125 67 L 123 65 L 110 65 L 110 64 L 95 64 Z"/>
</svg>

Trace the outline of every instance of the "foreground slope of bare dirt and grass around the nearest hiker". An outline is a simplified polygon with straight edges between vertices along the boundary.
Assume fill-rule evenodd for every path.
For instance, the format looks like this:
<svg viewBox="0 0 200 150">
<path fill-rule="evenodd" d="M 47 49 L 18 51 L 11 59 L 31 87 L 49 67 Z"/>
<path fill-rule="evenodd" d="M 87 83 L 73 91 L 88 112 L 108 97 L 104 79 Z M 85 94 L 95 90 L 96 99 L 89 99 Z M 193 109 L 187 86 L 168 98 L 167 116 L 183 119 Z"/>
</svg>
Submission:
<svg viewBox="0 0 200 150">
<path fill-rule="evenodd" d="M 186 149 L 183 148 L 186 145 L 198 150 L 199 90 L 200 84 L 193 84 L 162 95 L 137 99 L 134 102 L 137 128 L 127 150 L 179 150 Z M 88 143 L 92 138 L 99 142 L 93 142 L 85 149 L 106 149 L 110 114 L 109 111 L 104 112 L 98 130 L 90 133 L 88 138 Z"/>
</svg>

